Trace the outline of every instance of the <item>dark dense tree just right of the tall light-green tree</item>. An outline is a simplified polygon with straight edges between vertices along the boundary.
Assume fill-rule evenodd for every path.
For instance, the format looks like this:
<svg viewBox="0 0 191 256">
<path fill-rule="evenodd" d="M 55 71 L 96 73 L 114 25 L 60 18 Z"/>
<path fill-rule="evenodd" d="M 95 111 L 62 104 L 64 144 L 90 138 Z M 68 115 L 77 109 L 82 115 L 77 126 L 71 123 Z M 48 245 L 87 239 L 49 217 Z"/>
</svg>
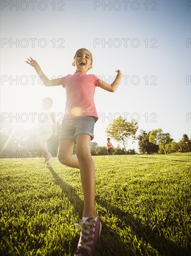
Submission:
<svg viewBox="0 0 191 256">
<path fill-rule="evenodd" d="M 156 144 L 153 144 L 152 142 L 149 142 L 149 134 L 150 132 L 146 132 L 144 130 L 140 130 L 140 135 L 138 136 L 138 144 L 139 144 L 139 150 L 141 154 L 152 154 L 157 153 L 159 150 L 159 146 Z"/>
</svg>

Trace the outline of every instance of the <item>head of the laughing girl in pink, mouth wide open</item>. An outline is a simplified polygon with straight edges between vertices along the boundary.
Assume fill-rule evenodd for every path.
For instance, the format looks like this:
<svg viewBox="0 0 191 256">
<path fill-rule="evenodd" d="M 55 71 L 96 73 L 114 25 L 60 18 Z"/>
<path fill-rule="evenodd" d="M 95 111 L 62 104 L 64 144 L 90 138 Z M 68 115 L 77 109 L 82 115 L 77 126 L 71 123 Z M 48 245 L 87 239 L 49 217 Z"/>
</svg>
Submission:
<svg viewBox="0 0 191 256">
<path fill-rule="evenodd" d="M 79 49 L 74 56 L 72 65 L 76 66 L 76 72 L 86 73 L 92 68 L 92 56 L 86 49 Z"/>
</svg>

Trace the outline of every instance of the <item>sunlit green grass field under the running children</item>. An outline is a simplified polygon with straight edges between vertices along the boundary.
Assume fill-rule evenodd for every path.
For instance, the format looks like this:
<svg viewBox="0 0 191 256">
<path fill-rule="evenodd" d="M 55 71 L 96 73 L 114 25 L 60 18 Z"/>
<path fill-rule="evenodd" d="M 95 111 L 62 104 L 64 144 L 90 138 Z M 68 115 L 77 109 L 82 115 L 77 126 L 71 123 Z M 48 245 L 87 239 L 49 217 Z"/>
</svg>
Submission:
<svg viewBox="0 0 191 256">
<path fill-rule="evenodd" d="M 191 255 L 191 154 L 93 157 L 97 256 Z M 69 256 L 83 193 L 78 169 L 1 159 L 0 255 Z"/>
</svg>

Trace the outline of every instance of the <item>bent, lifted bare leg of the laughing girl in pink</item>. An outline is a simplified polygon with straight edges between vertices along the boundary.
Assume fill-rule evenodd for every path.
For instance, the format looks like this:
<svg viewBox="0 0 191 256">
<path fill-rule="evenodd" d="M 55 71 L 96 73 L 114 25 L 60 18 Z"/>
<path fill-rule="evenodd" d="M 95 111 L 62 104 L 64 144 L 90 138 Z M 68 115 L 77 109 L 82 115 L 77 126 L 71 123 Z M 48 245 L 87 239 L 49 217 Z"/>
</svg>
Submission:
<svg viewBox="0 0 191 256">
<path fill-rule="evenodd" d="M 58 160 L 67 166 L 80 168 L 76 155 L 73 155 L 74 141 L 62 139 L 59 141 Z"/>
</svg>

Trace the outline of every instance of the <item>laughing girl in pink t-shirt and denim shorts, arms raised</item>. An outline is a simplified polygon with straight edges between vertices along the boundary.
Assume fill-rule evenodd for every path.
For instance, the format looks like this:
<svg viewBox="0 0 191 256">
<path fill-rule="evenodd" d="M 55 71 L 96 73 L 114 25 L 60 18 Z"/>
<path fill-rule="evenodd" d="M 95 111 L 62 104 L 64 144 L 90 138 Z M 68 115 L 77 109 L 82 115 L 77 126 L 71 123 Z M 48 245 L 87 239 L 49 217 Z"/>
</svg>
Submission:
<svg viewBox="0 0 191 256">
<path fill-rule="evenodd" d="M 90 153 L 90 141 L 94 138 L 94 125 L 98 120 L 94 103 L 96 87 L 115 92 L 121 82 L 121 71 L 117 70 L 116 78 L 108 84 L 94 74 L 86 74 L 92 69 L 92 54 L 85 48 L 78 49 L 73 58 L 74 74 L 63 78 L 49 80 L 37 61 L 31 57 L 26 61 L 35 68 L 45 86 L 62 85 L 66 90 L 66 107 L 62 123 L 58 159 L 67 166 L 80 169 L 83 188 L 83 219 L 77 220 L 75 226 L 81 228 L 81 236 L 75 250 L 75 256 L 91 256 L 102 225 L 96 214 L 95 207 L 95 165 Z M 76 143 L 76 155 L 73 148 Z"/>
</svg>

